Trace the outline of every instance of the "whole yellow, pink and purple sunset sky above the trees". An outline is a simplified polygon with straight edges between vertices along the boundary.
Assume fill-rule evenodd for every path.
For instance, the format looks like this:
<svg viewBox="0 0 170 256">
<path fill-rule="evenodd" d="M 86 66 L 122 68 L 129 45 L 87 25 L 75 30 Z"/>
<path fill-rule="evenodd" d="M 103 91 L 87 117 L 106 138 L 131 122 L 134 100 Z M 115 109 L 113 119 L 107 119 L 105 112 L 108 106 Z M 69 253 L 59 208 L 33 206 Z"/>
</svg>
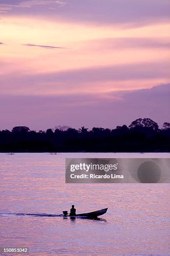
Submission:
<svg viewBox="0 0 170 256">
<path fill-rule="evenodd" d="M 0 130 L 170 122 L 169 0 L 0 0 Z"/>
</svg>

